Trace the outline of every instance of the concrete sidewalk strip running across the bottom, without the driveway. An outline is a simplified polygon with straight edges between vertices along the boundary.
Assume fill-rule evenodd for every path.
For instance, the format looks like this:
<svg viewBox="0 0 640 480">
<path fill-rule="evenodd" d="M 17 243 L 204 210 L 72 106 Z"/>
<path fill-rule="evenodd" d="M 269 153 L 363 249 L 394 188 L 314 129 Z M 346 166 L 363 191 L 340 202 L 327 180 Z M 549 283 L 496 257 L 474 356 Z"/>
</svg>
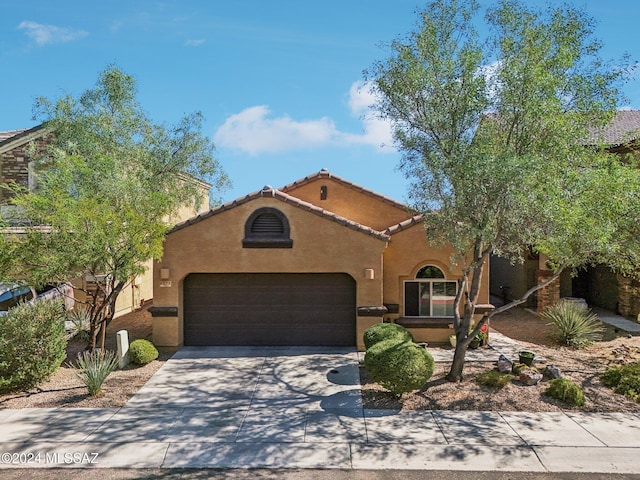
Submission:
<svg viewBox="0 0 640 480">
<path fill-rule="evenodd" d="M 0 468 L 640 473 L 640 416 L 247 407 L 0 411 Z"/>
</svg>

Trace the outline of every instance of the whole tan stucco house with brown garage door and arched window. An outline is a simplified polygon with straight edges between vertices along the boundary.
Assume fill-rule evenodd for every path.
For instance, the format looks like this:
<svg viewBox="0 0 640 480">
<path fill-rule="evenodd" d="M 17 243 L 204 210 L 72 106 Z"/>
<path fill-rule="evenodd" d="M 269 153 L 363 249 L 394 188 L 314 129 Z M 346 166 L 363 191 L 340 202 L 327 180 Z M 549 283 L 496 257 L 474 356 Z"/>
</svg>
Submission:
<svg viewBox="0 0 640 480">
<path fill-rule="evenodd" d="M 327 170 L 265 186 L 168 233 L 153 341 L 364 348 L 368 327 L 395 321 L 418 342 L 447 342 L 461 275 L 451 255 L 406 205 Z"/>
</svg>

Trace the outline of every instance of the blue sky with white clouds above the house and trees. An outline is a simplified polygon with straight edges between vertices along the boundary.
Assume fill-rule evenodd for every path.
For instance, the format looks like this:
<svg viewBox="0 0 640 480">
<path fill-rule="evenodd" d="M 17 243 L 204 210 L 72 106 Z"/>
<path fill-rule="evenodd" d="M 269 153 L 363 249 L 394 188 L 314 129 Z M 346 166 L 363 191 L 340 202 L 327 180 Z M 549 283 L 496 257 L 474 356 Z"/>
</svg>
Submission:
<svg viewBox="0 0 640 480">
<path fill-rule="evenodd" d="M 483 0 L 488 4 L 488 0 Z M 530 0 L 530 4 L 543 4 Z M 637 0 L 591 0 L 602 55 L 640 60 Z M 415 25 L 417 0 L 0 0 L 0 131 L 34 99 L 78 95 L 116 64 L 156 122 L 203 112 L 231 200 L 328 168 L 397 200 L 407 182 L 363 70 Z M 640 74 L 627 107 L 640 108 Z"/>
</svg>

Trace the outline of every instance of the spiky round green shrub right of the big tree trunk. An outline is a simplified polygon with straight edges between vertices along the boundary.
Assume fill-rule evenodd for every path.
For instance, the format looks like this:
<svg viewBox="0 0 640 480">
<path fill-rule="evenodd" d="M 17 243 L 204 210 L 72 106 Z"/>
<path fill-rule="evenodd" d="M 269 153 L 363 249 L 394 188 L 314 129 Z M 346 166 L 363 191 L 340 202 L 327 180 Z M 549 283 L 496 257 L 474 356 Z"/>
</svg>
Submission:
<svg viewBox="0 0 640 480">
<path fill-rule="evenodd" d="M 584 305 L 560 301 L 542 313 L 554 328 L 556 340 L 575 348 L 584 348 L 602 338 L 602 322 Z"/>
</svg>

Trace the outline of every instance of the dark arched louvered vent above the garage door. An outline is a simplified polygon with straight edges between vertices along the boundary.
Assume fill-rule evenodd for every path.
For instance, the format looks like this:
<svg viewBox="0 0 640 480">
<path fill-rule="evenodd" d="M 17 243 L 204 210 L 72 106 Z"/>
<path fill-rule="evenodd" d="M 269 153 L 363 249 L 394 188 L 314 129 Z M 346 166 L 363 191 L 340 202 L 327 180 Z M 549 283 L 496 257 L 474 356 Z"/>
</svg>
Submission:
<svg viewBox="0 0 640 480">
<path fill-rule="evenodd" d="M 291 248 L 289 221 L 278 209 L 263 207 L 254 211 L 244 226 L 244 248 Z"/>
</svg>

